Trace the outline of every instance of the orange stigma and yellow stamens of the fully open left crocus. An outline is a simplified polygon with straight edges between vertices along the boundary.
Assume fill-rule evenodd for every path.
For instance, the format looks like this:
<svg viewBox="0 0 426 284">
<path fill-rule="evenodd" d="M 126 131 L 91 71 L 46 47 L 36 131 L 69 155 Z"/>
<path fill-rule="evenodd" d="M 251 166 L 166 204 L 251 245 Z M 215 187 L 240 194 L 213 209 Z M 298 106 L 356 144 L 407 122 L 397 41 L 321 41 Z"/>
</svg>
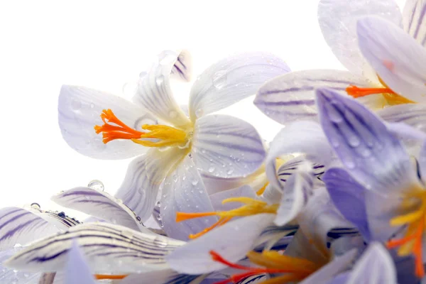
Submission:
<svg viewBox="0 0 426 284">
<path fill-rule="evenodd" d="M 146 132 L 132 129 L 119 120 L 111 109 L 104 109 L 101 118 L 104 125 L 94 126 L 94 131 L 97 134 L 102 132 L 104 143 L 116 139 L 129 139 L 146 147 L 180 146 L 187 148 L 190 141 L 190 131 L 176 129 L 172 126 L 143 124 L 142 129 L 147 130 Z"/>
</svg>

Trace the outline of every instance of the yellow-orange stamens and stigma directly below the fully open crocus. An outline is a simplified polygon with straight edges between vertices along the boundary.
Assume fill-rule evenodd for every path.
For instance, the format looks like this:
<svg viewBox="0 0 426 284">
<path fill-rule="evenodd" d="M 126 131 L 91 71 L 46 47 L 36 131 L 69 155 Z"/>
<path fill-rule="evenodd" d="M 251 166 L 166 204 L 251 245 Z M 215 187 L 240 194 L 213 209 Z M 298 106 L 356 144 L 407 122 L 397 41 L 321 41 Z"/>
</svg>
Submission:
<svg viewBox="0 0 426 284">
<path fill-rule="evenodd" d="M 231 197 L 227 198 L 226 200 L 222 201 L 222 204 L 228 203 L 228 202 L 241 202 L 245 205 L 236 208 L 231 209 L 229 211 L 217 211 L 217 212 L 197 212 L 197 213 L 187 213 L 187 212 L 176 212 L 176 222 L 182 222 L 188 219 L 195 219 L 195 218 L 201 218 L 201 217 L 208 217 L 208 216 L 218 216 L 219 221 L 214 223 L 212 226 L 209 226 L 208 228 L 204 229 L 203 231 L 200 231 L 200 233 L 197 234 L 190 234 L 190 239 L 195 239 L 199 236 L 202 236 L 206 234 L 208 231 L 211 231 L 212 229 L 216 228 L 217 226 L 222 226 L 223 224 L 226 224 L 231 220 L 233 217 L 243 217 L 243 216 L 251 216 L 255 214 L 261 214 L 261 213 L 273 213 L 275 214 L 278 210 L 279 204 L 272 204 L 269 205 L 266 202 L 260 201 L 260 200 L 254 200 L 249 197 Z"/>
</svg>

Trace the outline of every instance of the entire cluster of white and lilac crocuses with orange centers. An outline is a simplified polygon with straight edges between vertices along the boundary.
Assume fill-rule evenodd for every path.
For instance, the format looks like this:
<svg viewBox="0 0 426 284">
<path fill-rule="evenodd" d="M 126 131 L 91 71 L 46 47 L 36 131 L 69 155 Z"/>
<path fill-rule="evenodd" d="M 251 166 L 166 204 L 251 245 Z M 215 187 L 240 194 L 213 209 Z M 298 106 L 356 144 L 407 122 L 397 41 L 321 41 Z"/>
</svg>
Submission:
<svg viewBox="0 0 426 284">
<path fill-rule="evenodd" d="M 114 196 L 99 181 L 53 196 L 91 217 L 0 209 L 1 283 L 420 283 L 426 240 L 426 1 L 321 0 L 347 68 L 291 72 L 268 53 L 221 60 L 192 84 L 165 51 L 132 102 L 63 86 L 65 141 L 133 158 Z M 253 103 L 271 143 L 216 112 Z"/>
</svg>

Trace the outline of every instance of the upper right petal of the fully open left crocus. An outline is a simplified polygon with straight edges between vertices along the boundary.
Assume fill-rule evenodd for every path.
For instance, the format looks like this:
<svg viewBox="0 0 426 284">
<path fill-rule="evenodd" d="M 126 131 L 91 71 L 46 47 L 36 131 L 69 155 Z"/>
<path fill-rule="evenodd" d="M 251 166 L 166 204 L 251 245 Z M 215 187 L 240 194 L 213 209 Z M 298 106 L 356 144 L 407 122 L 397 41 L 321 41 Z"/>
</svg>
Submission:
<svg viewBox="0 0 426 284">
<path fill-rule="evenodd" d="M 243 53 L 225 58 L 197 78 L 190 94 L 192 121 L 256 94 L 273 77 L 289 72 L 283 60 L 268 53 Z"/>
</svg>

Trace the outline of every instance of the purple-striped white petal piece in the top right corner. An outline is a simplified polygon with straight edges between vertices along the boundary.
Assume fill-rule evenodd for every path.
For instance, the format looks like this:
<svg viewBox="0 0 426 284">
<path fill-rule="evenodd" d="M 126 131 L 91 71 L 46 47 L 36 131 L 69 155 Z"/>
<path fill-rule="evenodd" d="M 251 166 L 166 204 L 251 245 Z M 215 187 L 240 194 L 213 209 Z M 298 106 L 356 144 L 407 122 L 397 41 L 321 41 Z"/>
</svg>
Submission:
<svg viewBox="0 0 426 284">
<path fill-rule="evenodd" d="M 403 11 L 404 31 L 426 47 L 426 1 L 408 0 Z"/>
</svg>

